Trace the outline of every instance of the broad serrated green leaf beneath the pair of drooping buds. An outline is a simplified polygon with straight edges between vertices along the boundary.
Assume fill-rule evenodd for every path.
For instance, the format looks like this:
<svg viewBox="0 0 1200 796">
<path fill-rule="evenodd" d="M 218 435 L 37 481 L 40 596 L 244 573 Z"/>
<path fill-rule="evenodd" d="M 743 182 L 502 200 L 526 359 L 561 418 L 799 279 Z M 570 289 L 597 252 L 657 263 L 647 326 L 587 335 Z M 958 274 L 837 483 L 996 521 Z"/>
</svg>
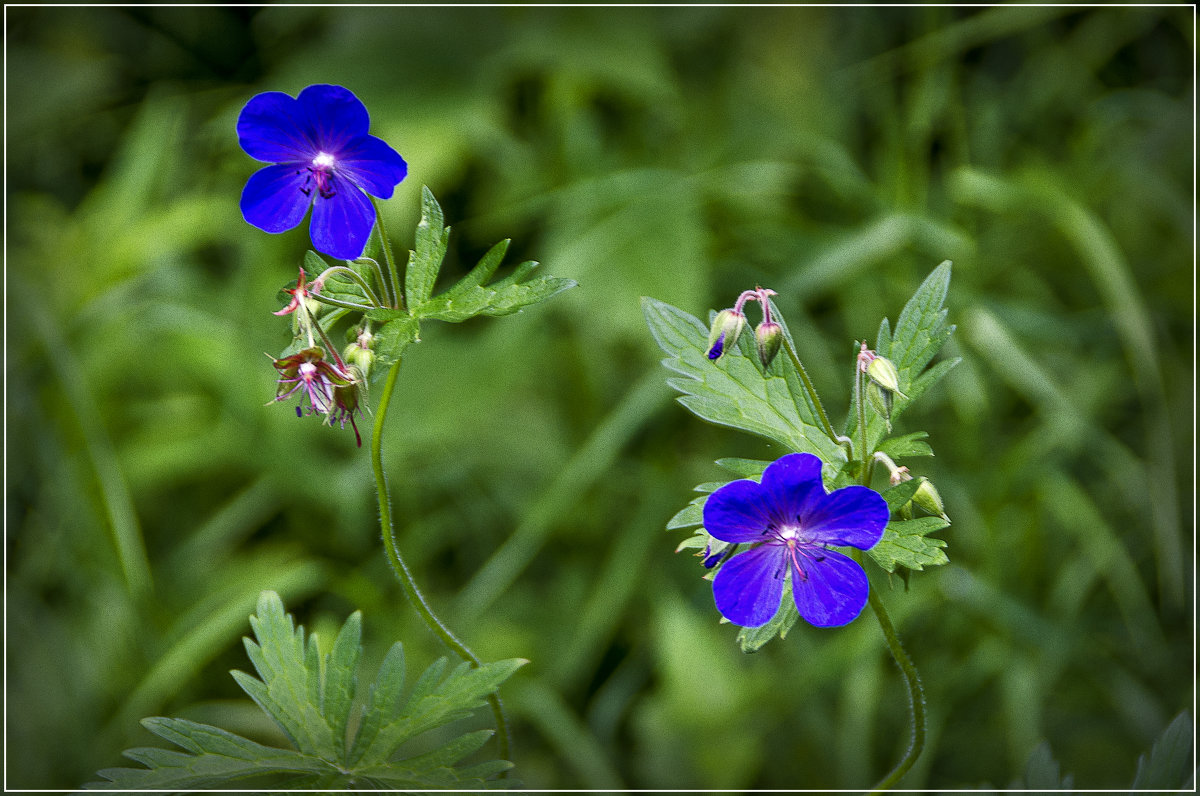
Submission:
<svg viewBox="0 0 1200 796">
<path fill-rule="evenodd" d="M 642 299 L 642 310 L 668 354 L 662 364 L 683 376 L 667 384 L 683 393 L 679 402 L 697 417 L 773 439 L 788 450 L 814 453 L 826 462 L 845 460 L 845 450 L 816 425 L 811 407 L 802 409 L 805 403 L 793 400 L 788 377 L 764 375 L 757 355 L 740 348 L 744 340 L 713 361 L 707 355 L 708 329 L 697 318 L 650 298 Z"/>
</svg>

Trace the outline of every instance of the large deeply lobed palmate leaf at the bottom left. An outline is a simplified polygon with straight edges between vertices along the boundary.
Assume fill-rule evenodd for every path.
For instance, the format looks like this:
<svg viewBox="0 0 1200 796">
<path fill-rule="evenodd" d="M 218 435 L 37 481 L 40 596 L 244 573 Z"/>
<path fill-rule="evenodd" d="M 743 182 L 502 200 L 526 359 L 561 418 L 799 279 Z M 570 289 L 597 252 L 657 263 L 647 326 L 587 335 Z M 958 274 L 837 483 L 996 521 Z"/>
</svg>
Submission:
<svg viewBox="0 0 1200 796">
<path fill-rule="evenodd" d="M 220 728 L 185 719 L 149 718 L 143 724 L 185 752 L 138 748 L 126 756 L 144 768 L 107 768 L 108 782 L 89 789 L 184 790 L 232 783 L 293 788 L 486 788 L 487 778 L 511 767 L 506 760 L 458 766 L 491 737 L 491 730 L 461 735 L 443 747 L 396 760 L 406 742 L 469 716 L 526 662 L 462 664 L 443 677 L 445 659 L 431 665 L 404 696 L 404 656 L 397 642 L 368 689 L 364 716 L 353 738 L 348 728 L 355 705 L 362 620 L 354 612 L 342 626 L 329 654 L 316 635 L 305 638 L 274 592 L 263 592 L 251 617 L 256 641 L 246 652 L 259 677 L 234 677 L 280 725 L 295 749 L 277 749 Z"/>
</svg>

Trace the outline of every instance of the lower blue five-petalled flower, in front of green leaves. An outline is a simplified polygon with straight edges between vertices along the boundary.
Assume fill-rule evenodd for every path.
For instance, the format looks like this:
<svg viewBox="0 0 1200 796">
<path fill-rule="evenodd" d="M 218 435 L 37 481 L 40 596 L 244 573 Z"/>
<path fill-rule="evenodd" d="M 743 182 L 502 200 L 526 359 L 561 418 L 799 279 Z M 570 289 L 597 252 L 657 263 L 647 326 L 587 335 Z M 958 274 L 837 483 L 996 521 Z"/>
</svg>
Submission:
<svg viewBox="0 0 1200 796">
<path fill-rule="evenodd" d="M 772 620 L 791 573 L 800 616 L 817 627 L 851 622 L 866 604 L 866 573 L 830 545 L 874 547 L 888 523 L 888 505 L 865 486 L 832 493 L 821 481 L 821 460 L 790 454 L 762 474 L 739 480 L 704 503 L 704 529 L 731 544 L 752 544 L 713 579 L 716 609 L 734 624 L 757 628 Z"/>
</svg>

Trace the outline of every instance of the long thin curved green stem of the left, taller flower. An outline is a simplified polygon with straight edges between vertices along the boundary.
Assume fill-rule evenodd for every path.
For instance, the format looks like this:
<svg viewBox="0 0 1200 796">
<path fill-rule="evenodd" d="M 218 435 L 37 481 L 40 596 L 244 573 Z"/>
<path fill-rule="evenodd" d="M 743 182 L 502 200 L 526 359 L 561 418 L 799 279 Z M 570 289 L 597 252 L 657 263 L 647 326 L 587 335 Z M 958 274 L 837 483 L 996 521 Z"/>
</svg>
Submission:
<svg viewBox="0 0 1200 796">
<path fill-rule="evenodd" d="M 416 581 L 413 580 L 413 573 L 409 571 L 408 565 L 400 555 L 400 549 L 396 546 L 396 526 L 391 519 L 391 501 L 388 498 L 388 477 L 383 469 L 383 453 L 380 443 L 383 442 L 383 424 L 388 418 L 388 405 L 391 403 L 391 394 L 396 387 L 396 377 L 400 375 L 400 361 L 396 360 L 391 370 L 388 371 L 388 381 L 383 388 L 383 395 L 379 396 L 379 408 L 376 409 L 376 421 L 374 431 L 371 435 L 371 466 L 374 469 L 376 477 L 376 491 L 379 496 L 379 525 L 383 529 L 383 547 L 388 555 L 388 563 L 391 564 L 392 571 L 396 574 L 396 579 L 403 587 L 404 593 L 408 595 L 409 602 L 412 602 L 413 608 L 420 615 L 425 624 L 442 639 L 443 642 L 455 654 L 462 658 L 464 662 L 469 663 L 472 668 L 478 668 L 481 662 L 470 648 L 450 632 L 450 628 L 445 626 L 430 608 L 428 602 L 425 595 L 421 594 L 421 589 L 416 587 Z M 487 698 L 488 704 L 492 706 L 492 714 L 496 717 L 496 743 L 498 747 L 499 758 L 502 760 L 509 759 L 509 726 L 508 720 L 504 718 L 504 707 L 500 705 L 500 698 L 498 694 L 492 693 Z M 506 774 L 502 774 L 506 776 Z"/>
</svg>

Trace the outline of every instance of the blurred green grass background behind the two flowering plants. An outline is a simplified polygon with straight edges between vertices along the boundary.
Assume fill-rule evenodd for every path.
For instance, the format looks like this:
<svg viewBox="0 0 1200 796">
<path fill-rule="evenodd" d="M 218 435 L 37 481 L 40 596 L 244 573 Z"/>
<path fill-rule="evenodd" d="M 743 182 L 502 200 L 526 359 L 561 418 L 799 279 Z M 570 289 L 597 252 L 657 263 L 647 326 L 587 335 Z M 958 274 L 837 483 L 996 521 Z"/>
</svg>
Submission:
<svg viewBox="0 0 1200 796">
<path fill-rule="evenodd" d="M 862 788 L 907 737 L 869 617 L 743 656 L 666 520 L 766 443 L 668 400 L 638 310 L 779 291 L 838 412 L 938 262 L 962 364 L 928 430 L 952 564 L 884 600 L 925 678 L 912 788 L 1048 740 L 1122 788 L 1193 705 L 1187 7 L 7 8 L 7 784 L 73 788 L 145 714 L 278 741 L 228 676 L 259 589 L 444 654 L 365 455 L 272 395 L 307 247 L 236 198 L 248 96 L 341 83 L 454 226 L 581 287 L 431 327 L 385 448 L 401 544 L 506 687 L 536 788 Z M 424 664 L 421 664 L 424 665 Z M 276 734 L 276 735 L 272 735 Z"/>
</svg>

